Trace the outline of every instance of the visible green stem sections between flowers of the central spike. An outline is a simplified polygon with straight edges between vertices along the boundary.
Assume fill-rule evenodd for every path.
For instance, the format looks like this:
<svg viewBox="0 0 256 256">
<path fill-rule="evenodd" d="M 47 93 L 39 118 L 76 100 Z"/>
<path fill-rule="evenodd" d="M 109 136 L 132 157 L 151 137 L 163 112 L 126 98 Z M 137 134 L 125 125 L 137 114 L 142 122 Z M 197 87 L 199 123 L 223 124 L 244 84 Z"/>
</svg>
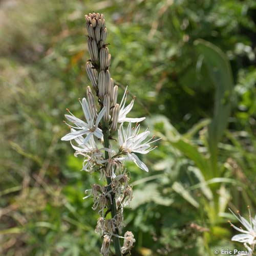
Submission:
<svg viewBox="0 0 256 256">
<path fill-rule="evenodd" d="M 109 125 L 108 123 L 103 122 L 103 138 L 104 138 L 104 147 L 109 148 L 110 141 L 109 141 Z M 109 159 L 109 152 L 105 151 L 105 159 Z M 108 183 L 108 191 L 111 190 L 111 178 L 106 177 L 106 181 Z M 114 218 L 117 215 L 117 209 L 116 209 L 116 200 L 115 200 L 115 193 L 113 191 L 110 192 L 112 204 L 110 202 L 110 208 L 111 208 L 111 216 Z M 115 233 L 119 235 L 118 229 L 115 230 Z M 120 240 L 118 237 L 113 236 L 114 241 L 114 247 L 115 247 L 115 253 L 117 256 L 121 256 L 121 250 L 120 250 Z"/>
</svg>

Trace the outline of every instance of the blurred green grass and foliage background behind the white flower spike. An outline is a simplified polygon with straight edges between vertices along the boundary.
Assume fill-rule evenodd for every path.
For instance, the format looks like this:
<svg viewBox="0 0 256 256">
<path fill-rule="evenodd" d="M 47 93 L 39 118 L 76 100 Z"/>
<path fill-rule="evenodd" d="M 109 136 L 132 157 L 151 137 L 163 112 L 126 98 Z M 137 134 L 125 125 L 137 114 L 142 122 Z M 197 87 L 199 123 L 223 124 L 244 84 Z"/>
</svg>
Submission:
<svg viewBox="0 0 256 256">
<path fill-rule="evenodd" d="M 131 116 L 163 139 L 127 162 L 132 255 L 243 249 L 228 208 L 256 214 L 256 3 L 253 0 L 0 1 L 0 254 L 98 255 L 98 214 L 82 200 L 62 123 L 82 116 L 84 14 L 105 16 L 111 75 L 136 95 Z M 122 89 L 119 90 L 120 96 Z"/>
</svg>

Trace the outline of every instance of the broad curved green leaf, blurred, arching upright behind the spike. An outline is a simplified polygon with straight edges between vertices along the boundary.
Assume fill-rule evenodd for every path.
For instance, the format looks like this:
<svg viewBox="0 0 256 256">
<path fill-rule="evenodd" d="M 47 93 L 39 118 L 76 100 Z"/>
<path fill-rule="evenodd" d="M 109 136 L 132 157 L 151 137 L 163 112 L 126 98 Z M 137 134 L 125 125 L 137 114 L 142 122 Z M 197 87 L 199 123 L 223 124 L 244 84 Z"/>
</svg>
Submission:
<svg viewBox="0 0 256 256">
<path fill-rule="evenodd" d="M 194 42 L 199 58 L 208 69 L 209 79 L 215 86 L 214 116 L 208 125 L 208 146 L 214 174 L 217 172 L 218 142 L 227 126 L 231 108 L 233 78 L 226 55 L 210 42 L 202 39 Z"/>
</svg>

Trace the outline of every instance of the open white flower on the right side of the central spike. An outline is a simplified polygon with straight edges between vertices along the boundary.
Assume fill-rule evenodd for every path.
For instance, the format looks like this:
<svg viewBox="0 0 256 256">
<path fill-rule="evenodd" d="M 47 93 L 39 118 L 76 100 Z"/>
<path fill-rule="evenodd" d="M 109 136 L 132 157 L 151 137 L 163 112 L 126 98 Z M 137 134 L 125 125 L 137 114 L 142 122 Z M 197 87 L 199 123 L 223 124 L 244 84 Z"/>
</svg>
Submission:
<svg viewBox="0 0 256 256">
<path fill-rule="evenodd" d="M 124 131 L 122 123 L 118 129 L 119 151 L 127 155 L 126 159 L 132 160 L 139 168 L 148 172 L 147 166 L 134 153 L 147 154 L 155 148 L 150 144 L 159 139 L 152 141 L 154 138 L 152 137 L 146 142 L 143 142 L 150 132 L 146 130 L 139 134 L 139 131 L 140 125 L 136 125 L 135 128 L 132 128 L 131 122 L 129 122 L 126 131 Z"/>
</svg>

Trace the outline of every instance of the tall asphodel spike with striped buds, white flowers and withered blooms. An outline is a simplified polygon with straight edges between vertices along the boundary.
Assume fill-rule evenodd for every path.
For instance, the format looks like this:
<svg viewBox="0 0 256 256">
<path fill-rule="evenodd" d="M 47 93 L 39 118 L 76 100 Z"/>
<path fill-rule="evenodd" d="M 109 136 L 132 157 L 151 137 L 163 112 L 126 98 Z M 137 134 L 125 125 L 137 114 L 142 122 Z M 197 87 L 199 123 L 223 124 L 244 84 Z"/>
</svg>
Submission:
<svg viewBox="0 0 256 256">
<path fill-rule="evenodd" d="M 67 109 L 69 114 L 65 117 L 71 132 L 61 140 L 71 141 L 75 156 L 83 156 L 82 170 L 90 174 L 99 173 L 100 179 L 105 181 L 105 186 L 94 184 L 91 189 L 87 189 L 84 199 L 92 197 L 92 208 L 99 213 L 95 231 L 103 239 L 100 253 L 109 255 L 113 244 L 115 254 L 122 255 L 129 253 L 135 243 L 131 231 L 123 234 L 123 208 L 133 198 L 124 161 L 131 160 L 148 172 L 137 153 L 147 154 L 152 151 L 155 147 L 151 143 L 156 140 L 154 136 L 147 139 L 150 134 L 147 130 L 140 133 L 139 122 L 145 117 L 126 117 L 134 104 L 133 98 L 126 105 L 127 88 L 121 102 L 117 102 L 118 86 L 109 71 L 111 54 L 105 42 L 107 30 L 103 14 L 90 13 L 85 18 L 90 53 L 86 70 L 92 86 L 87 87 L 86 97 L 80 100 L 83 119 L 75 117 Z"/>
</svg>

